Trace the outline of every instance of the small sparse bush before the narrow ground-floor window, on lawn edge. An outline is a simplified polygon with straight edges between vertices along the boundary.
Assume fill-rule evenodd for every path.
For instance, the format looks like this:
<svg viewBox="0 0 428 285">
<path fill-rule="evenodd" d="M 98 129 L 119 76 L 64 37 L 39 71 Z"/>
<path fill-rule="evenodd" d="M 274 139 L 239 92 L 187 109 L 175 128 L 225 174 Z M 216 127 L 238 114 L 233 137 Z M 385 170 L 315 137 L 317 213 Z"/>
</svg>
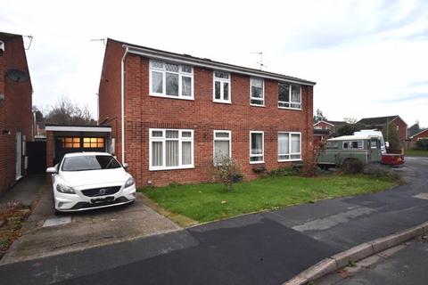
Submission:
<svg viewBox="0 0 428 285">
<path fill-rule="evenodd" d="M 218 182 L 225 184 L 227 191 L 231 191 L 233 183 L 243 179 L 239 163 L 227 156 L 216 157 L 214 162 L 212 175 Z"/>
</svg>

